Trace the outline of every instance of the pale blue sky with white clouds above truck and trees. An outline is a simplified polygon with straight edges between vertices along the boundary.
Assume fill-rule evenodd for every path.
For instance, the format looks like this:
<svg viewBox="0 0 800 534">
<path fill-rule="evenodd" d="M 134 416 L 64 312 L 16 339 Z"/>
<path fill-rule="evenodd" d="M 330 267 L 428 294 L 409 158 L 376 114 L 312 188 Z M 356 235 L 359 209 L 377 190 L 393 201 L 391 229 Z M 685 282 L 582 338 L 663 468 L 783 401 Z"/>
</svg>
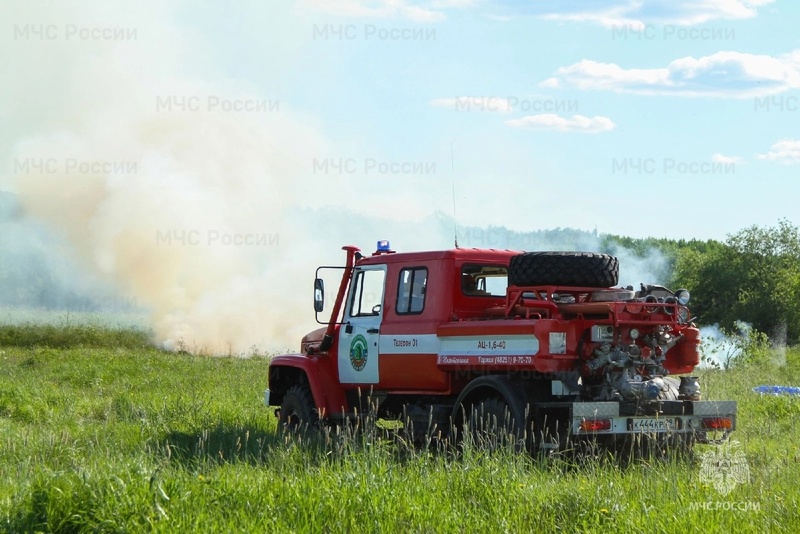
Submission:
<svg viewBox="0 0 800 534">
<path fill-rule="evenodd" d="M 308 0 L 220 44 L 227 75 L 319 125 L 322 157 L 436 164 L 344 177 L 370 212 L 450 213 L 455 180 L 464 224 L 722 239 L 800 222 L 799 14 L 780 0 Z"/>
</svg>

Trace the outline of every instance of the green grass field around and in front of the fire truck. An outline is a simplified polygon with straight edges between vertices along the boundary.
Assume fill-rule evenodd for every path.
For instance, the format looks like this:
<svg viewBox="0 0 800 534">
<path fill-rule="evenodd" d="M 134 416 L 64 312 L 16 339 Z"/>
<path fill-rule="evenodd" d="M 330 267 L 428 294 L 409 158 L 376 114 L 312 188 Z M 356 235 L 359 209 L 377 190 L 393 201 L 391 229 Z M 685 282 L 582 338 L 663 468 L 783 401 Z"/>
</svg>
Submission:
<svg viewBox="0 0 800 534">
<path fill-rule="evenodd" d="M 800 385 L 786 364 L 702 373 L 739 401 L 749 477 L 723 495 L 690 459 L 576 463 L 413 449 L 383 431 L 303 443 L 262 404 L 268 360 L 152 348 L 146 333 L 0 327 L 0 531 L 793 532 Z"/>
</svg>

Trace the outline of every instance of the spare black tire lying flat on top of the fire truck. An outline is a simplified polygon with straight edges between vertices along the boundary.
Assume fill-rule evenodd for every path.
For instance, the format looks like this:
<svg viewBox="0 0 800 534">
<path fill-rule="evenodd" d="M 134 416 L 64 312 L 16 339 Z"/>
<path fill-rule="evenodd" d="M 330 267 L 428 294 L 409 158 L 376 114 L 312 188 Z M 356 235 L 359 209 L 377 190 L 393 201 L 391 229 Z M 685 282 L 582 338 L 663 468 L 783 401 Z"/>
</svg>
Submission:
<svg viewBox="0 0 800 534">
<path fill-rule="evenodd" d="M 593 252 L 524 252 L 511 258 L 508 283 L 514 286 L 612 287 L 619 261 Z"/>
</svg>

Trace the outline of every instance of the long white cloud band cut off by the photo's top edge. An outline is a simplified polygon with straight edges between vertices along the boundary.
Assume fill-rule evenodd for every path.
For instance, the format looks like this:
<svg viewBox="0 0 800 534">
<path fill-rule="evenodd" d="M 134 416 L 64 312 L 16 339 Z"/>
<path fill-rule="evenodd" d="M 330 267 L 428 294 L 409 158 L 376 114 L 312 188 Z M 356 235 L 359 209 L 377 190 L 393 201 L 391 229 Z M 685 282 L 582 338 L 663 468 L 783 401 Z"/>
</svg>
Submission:
<svg viewBox="0 0 800 534">
<path fill-rule="evenodd" d="M 479 9 L 494 20 L 534 16 L 546 20 L 588 22 L 606 27 L 642 29 L 647 24 L 690 26 L 714 20 L 758 16 L 774 0 L 302 0 L 312 9 L 350 17 L 405 18 L 431 22 L 448 11 Z"/>
</svg>

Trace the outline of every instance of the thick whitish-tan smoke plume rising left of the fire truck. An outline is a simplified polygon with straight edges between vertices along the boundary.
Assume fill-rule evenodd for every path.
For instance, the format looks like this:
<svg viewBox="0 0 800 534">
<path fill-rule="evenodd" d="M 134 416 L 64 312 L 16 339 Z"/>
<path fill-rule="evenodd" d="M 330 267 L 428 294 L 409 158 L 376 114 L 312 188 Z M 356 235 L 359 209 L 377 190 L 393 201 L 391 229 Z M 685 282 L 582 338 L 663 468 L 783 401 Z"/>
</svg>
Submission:
<svg viewBox="0 0 800 534">
<path fill-rule="evenodd" d="M 3 187 L 147 307 L 166 345 L 227 353 L 299 338 L 309 225 L 288 208 L 324 141 L 252 88 L 181 77 L 189 43 L 166 8 L 42 7 L 3 8 L 18 58 L 3 71 L 2 100 L 18 105 L 3 106 Z M 95 40 L 98 28 L 134 38 Z"/>
</svg>

